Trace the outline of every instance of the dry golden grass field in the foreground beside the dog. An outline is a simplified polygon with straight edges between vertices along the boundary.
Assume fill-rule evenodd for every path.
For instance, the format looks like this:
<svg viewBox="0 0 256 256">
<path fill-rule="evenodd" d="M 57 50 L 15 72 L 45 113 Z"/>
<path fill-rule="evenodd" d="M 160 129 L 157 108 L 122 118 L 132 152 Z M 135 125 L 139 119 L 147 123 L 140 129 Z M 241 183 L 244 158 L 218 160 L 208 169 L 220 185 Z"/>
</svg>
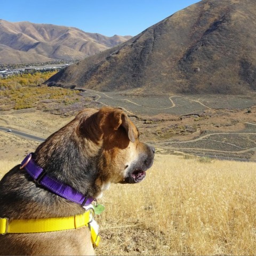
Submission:
<svg viewBox="0 0 256 256">
<path fill-rule="evenodd" d="M 0 179 L 17 161 L 0 162 Z M 256 163 L 156 155 L 137 185 L 112 185 L 99 255 L 255 255 Z"/>
</svg>

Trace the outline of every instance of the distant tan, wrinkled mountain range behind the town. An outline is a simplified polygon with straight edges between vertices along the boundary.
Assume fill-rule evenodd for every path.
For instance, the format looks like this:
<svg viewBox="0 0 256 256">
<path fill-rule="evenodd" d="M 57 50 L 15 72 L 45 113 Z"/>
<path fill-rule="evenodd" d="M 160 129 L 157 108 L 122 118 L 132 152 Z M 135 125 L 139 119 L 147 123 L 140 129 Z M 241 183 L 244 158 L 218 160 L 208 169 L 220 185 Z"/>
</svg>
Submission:
<svg viewBox="0 0 256 256">
<path fill-rule="evenodd" d="M 81 60 L 130 38 L 85 33 L 73 27 L 0 20 L 0 63 Z"/>
</svg>

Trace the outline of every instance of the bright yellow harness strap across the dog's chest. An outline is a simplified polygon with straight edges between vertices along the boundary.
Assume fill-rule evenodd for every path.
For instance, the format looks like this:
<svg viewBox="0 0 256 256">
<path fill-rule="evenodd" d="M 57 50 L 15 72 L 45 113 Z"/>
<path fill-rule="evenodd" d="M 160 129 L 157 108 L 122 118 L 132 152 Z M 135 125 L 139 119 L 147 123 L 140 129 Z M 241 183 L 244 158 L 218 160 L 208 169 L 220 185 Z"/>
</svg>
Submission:
<svg viewBox="0 0 256 256">
<path fill-rule="evenodd" d="M 91 225 L 92 222 L 94 222 L 94 225 Z M 2 235 L 7 233 L 44 233 L 76 229 L 84 226 L 90 228 L 92 244 L 97 247 L 100 237 L 98 236 L 97 228 L 94 228 L 95 220 L 93 218 L 90 220 L 90 211 L 70 217 L 49 219 L 9 220 L 8 218 L 0 218 L 0 234 Z"/>
</svg>

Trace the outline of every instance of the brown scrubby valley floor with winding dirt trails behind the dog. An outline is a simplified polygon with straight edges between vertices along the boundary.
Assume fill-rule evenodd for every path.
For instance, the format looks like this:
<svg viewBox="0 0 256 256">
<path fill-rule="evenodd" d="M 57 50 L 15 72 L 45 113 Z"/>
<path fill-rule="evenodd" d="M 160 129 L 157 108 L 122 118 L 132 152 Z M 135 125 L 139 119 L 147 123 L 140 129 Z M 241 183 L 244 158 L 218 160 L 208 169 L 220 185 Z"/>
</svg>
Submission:
<svg viewBox="0 0 256 256">
<path fill-rule="evenodd" d="M 34 90 L 33 87 L 28 89 Z M 37 89 L 39 93 L 40 87 Z M 66 89 L 60 88 L 49 90 L 58 93 L 58 97 L 63 94 L 63 97 L 67 98 L 68 94 L 68 98 L 73 97 L 74 102 L 68 102 L 68 98 L 59 98 L 58 101 L 45 99 L 47 94 L 42 94 L 41 99 L 38 99 L 32 108 L 0 110 L 0 126 L 47 138 L 73 119 L 84 107 L 122 107 L 137 125 L 141 140 L 154 145 L 161 153 L 256 161 L 256 97 L 146 97 L 134 92 L 110 93 L 87 90 L 78 94 L 68 93 Z M 45 91 L 49 93 L 42 88 L 42 92 L 46 93 Z M 11 102 L 13 100 L 10 104 Z M 3 106 L 5 105 L 2 105 L 2 108 Z M 33 141 L 24 141 L 24 145 L 28 143 L 28 146 L 24 147 L 20 143 L 22 138 L 17 141 L 15 138 L 17 137 L 13 134 L 0 131 L 0 148 L 3 148 L 0 151 L 0 158 L 9 158 L 10 151 L 19 155 L 20 153 L 15 151 L 27 152 L 33 148 Z"/>
</svg>

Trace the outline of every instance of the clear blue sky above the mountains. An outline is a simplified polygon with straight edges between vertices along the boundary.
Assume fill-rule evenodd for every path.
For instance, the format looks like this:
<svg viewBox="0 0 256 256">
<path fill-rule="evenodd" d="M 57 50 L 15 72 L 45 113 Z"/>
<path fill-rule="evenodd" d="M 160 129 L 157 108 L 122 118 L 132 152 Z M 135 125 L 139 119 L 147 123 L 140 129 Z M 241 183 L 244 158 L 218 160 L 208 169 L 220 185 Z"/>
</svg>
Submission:
<svg viewBox="0 0 256 256">
<path fill-rule="evenodd" d="M 0 19 L 135 36 L 199 0 L 2 0 Z"/>
</svg>

